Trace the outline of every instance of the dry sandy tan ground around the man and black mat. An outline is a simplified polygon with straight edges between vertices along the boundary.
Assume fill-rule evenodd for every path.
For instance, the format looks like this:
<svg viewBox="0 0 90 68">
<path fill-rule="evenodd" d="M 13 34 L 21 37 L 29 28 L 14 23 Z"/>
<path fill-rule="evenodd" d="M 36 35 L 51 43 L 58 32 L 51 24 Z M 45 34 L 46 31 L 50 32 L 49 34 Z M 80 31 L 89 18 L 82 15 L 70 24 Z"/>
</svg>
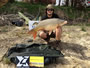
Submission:
<svg viewBox="0 0 90 68">
<path fill-rule="evenodd" d="M 90 27 L 63 26 L 62 29 L 61 46 L 64 57 L 45 68 L 90 68 Z M 27 26 L 0 27 L 0 60 L 8 48 L 15 44 L 27 44 L 27 40 L 32 38 L 27 32 Z M 1 61 L 0 68 L 15 68 L 15 65 Z"/>
</svg>

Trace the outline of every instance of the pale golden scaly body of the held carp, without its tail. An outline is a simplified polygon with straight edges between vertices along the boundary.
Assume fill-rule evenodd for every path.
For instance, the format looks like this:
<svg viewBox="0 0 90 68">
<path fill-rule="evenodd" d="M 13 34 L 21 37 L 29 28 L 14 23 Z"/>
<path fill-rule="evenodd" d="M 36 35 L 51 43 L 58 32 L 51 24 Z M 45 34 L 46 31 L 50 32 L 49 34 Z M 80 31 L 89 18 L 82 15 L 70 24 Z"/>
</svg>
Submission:
<svg viewBox="0 0 90 68">
<path fill-rule="evenodd" d="M 56 18 L 46 19 L 46 20 L 40 21 L 39 24 L 35 27 L 35 29 L 36 30 L 37 29 L 50 30 L 50 28 L 55 29 L 57 26 L 60 26 L 60 24 L 62 24 L 63 22 L 64 20 L 56 19 Z"/>
</svg>

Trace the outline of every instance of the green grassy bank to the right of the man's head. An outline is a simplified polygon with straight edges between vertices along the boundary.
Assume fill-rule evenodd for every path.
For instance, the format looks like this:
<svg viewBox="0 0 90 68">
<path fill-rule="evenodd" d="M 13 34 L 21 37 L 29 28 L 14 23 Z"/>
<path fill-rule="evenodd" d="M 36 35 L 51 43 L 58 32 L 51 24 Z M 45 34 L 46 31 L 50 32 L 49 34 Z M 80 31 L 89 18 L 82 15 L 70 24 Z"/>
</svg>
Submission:
<svg viewBox="0 0 90 68">
<path fill-rule="evenodd" d="M 74 7 L 65 7 L 65 6 L 62 7 L 58 6 L 55 8 L 57 10 L 61 9 L 69 19 L 76 19 L 79 17 L 83 17 L 84 19 L 90 18 L 90 13 L 88 13 L 90 11 L 90 8 L 86 8 L 84 10 L 78 10 L 77 8 Z"/>
</svg>

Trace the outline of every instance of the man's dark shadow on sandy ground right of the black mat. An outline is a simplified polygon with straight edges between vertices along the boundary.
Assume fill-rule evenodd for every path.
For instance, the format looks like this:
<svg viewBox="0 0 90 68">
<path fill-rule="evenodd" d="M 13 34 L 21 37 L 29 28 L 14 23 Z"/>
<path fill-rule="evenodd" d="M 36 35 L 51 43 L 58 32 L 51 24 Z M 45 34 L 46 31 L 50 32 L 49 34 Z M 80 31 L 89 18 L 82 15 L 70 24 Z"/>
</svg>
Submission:
<svg viewBox="0 0 90 68">
<path fill-rule="evenodd" d="M 62 50 L 66 53 L 67 56 L 71 55 L 82 60 L 90 60 L 90 57 L 85 55 L 85 50 L 87 50 L 85 46 L 66 42 L 62 42 L 61 46 Z"/>
</svg>

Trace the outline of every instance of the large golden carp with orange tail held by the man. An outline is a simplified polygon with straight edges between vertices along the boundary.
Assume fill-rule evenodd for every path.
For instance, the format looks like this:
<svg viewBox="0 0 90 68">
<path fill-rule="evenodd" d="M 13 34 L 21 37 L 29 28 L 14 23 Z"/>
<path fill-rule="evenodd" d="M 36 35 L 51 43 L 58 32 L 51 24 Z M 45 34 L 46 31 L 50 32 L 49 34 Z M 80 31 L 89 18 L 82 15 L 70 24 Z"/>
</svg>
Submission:
<svg viewBox="0 0 90 68">
<path fill-rule="evenodd" d="M 32 30 L 29 30 L 28 34 L 33 35 L 33 38 L 35 40 L 38 31 L 55 30 L 57 27 L 63 26 L 65 24 L 67 24 L 67 21 L 61 20 L 59 18 L 45 19 L 45 20 L 39 21 L 39 24 L 37 24 L 37 26 L 33 28 Z"/>
</svg>

